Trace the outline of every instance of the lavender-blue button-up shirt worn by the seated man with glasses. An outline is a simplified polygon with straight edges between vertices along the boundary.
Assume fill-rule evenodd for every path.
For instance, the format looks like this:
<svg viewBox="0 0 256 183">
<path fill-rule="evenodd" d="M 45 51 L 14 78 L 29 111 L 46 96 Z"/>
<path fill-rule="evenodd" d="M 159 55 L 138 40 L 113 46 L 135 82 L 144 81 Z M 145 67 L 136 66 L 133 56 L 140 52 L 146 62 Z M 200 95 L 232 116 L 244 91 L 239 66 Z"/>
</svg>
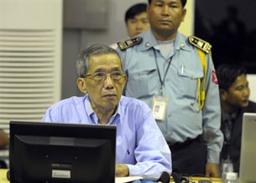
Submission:
<svg viewBox="0 0 256 183">
<path fill-rule="evenodd" d="M 42 121 L 98 124 L 88 95 L 52 105 Z M 117 125 L 116 163 L 128 165 L 129 175 L 158 179 L 163 171 L 171 173 L 169 147 L 146 104 L 122 96 L 108 125 Z"/>
</svg>

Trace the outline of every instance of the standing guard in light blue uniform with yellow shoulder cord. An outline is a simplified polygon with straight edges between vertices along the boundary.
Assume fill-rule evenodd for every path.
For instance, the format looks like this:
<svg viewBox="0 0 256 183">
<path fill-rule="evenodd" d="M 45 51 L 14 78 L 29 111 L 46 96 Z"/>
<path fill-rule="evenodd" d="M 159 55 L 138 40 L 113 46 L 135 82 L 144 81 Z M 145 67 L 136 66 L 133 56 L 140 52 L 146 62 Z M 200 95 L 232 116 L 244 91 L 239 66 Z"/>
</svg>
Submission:
<svg viewBox="0 0 256 183">
<path fill-rule="evenodd" d="M 178 32 L 185 3 L 149 0 L 149 30 L 118 43 L 128 75 L 124 94 L 153 111 L 160 106 L 154 117 L 170 146 L 174 172 L 219 176 L 223 136 L 217 77 L 209 43 Z"/>
</svg>

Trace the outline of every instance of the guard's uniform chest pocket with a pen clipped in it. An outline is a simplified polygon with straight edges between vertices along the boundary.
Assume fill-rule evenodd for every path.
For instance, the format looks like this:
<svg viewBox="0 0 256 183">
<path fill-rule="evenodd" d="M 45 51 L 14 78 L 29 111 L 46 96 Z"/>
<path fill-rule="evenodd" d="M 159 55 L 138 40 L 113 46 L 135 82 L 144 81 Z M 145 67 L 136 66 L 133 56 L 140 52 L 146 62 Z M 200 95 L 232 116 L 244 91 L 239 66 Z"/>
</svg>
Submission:
<svg viewBox="0 0 256 183">
<path fill-rule="evenodd" d="M 203 77 L 204 74 L 200 69 L 179 69 L 178 85 L 180 86 L 180 97 L 197 99 L 198 79 L 201 79 L 201 84 L 203 84 Z"/>
</svg>

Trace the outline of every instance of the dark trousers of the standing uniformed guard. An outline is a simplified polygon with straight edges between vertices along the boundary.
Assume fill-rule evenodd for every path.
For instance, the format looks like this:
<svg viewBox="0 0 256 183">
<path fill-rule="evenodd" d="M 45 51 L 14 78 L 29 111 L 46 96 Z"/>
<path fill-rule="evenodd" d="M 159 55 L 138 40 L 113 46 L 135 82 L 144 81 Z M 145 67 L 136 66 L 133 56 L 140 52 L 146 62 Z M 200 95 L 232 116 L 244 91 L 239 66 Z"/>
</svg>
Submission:
<svg viewBox="0 0 256 183">
<path fill-rule="evenodd" d="M 194 140 L 169 144 L 169 147 L 173 172 L 182 175 L 205 175 L 207 150 L 201 135 Z"/>
</svg>

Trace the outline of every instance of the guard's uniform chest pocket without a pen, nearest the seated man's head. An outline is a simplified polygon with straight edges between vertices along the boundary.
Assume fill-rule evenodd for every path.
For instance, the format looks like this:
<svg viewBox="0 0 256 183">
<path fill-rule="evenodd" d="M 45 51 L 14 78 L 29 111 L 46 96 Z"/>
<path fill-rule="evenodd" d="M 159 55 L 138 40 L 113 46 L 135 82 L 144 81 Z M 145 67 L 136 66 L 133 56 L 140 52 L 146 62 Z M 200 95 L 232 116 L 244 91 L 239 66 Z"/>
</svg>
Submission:
<svg viewBox="0 0 256 183">
<path fill-rule="evenodd" d="M 156 69 L 128 72 L 126 95 L 134 98 L 153 95 L 157 93 L 158 85 L 159 76 Z"/>
</svg>

